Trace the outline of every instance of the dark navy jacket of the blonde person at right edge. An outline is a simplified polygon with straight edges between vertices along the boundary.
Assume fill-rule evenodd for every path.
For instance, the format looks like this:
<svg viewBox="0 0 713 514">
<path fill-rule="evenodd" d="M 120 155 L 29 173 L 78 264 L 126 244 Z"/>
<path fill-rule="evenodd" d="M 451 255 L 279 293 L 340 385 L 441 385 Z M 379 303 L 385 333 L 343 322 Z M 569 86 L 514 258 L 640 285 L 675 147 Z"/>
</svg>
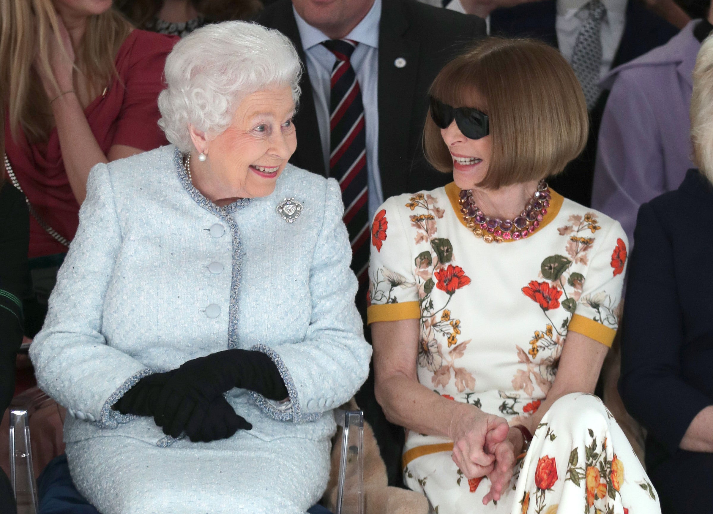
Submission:
<svg viewBox="0 0 713 514">
<path fill-rule="evenodd" d="M 650 470 L 679 452 L 693 418 L 713 405 L 712 216 L 713 187 L 697 170 L 639 209 L 619 391 L 648 431 Z"/>
</svg>

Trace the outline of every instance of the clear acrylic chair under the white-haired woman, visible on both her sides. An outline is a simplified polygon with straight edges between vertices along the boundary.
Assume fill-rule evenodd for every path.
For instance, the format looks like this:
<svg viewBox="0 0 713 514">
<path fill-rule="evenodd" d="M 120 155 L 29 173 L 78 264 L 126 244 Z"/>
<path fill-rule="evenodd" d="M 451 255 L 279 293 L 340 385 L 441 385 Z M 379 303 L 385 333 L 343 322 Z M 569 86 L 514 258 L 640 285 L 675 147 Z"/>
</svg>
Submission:
<svg viewBox="0 0 713 514">
<path fill-rule="evenodd" d="M 50 397 L 34 387 L 15 396 L 10 404 L 10 482 L 18 514 L 39 511 L 30 418 L 49 402 Z M 364 414 L 336 410 L 334 416 L 342 427 L 334 514 L 364 514 Z"/>
</svg>

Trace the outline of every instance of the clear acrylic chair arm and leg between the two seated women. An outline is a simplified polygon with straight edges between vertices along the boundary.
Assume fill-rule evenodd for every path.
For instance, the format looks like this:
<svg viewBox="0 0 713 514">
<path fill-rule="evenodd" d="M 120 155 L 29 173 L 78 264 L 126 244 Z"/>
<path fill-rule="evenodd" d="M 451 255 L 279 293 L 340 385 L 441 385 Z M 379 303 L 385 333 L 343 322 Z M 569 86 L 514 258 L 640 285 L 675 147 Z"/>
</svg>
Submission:
<svg viewBox="0 0 713 514">
<path fill-rule="evenodd" d="M 336 514 L 364 514 L 364 414 L 336 411 L 336 418 L 343 428 Z"/>
</svg>

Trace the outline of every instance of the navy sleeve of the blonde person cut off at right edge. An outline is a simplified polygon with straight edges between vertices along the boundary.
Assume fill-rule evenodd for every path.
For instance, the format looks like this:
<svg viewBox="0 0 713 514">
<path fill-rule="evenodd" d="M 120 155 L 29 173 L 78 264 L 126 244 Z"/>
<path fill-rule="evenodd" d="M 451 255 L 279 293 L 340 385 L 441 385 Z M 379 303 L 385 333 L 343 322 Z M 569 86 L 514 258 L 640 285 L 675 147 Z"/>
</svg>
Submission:
<svg viewBox="0 0 713 514">
<path fill-rule="evenodd" d="M 674 255 L 650 204 L 639 210 L 635 241 L 619 391 L 632 416 L 674 453 L 693 419 L 713 402 L 681 376 L 684 327 Z"/>
</svg>

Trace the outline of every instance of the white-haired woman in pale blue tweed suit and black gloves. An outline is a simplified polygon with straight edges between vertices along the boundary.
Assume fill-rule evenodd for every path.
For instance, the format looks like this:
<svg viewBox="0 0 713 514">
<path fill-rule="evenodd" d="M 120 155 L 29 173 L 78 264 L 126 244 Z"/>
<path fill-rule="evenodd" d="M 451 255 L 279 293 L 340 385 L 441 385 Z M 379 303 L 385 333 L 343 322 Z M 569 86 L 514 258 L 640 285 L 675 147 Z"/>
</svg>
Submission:
<svg viewBox="0 0 713 514">
<path fill-rule="evenodd" d="M 300 64 L 255 24 L 168 57 L 169 145 L 91 171 L 31 359 L 103 514 L 304 513 L 371 349 L 335 180 L 294 168 Z"/>
</svg>

